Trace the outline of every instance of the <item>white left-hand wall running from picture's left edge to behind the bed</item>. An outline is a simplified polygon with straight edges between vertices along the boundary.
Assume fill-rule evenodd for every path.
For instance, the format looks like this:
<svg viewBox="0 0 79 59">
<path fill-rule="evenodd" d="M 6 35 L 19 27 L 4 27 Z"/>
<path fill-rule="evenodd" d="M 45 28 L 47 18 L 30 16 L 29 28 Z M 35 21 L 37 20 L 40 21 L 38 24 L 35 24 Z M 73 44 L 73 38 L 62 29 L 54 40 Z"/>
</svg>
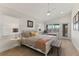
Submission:
<svg viewBox="0 0 79 59">
<path fill-rule="evenodd" d="M 27 20 L 33 21 L 33 28 L 27 27 Z M 10 38 L 11 35 L 15 34 L 12 32 L 13 28 L 18 28 L 18 33 L 20 33 L 23 30 L 38 31 L 39 27 L 43 29 L 43 26 L 41 24 L 42 23 L 36 21 L 35 19 L 32 19 L 31 17 L 27 17 L 26 19 L 19 19 L 0 13 L 0 52 L 8 50 L 18 45 L 18 42 L 16 40 L 11 40 Z"/>
</svg>

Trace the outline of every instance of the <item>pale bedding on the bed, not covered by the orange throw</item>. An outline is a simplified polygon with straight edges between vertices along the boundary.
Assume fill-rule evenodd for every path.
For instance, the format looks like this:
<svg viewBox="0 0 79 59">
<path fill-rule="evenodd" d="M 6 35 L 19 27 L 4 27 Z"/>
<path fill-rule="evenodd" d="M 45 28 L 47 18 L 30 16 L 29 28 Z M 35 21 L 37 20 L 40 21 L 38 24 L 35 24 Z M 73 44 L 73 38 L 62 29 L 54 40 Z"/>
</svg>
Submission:
<svg viewBox="0 0 79 59">
<path fill-rule="evenodd" d="M 33 37 L 29 37 L 29 38 L 23 38 L 22 39 L 22 42 L 24 44 L 28 44 L 28 45 L 31 45 L 31 46 L 35 46 L 35 42 L 37 40 L 39 40 L 40 38 L 44 38 L 44 39 L 52 39 L 53 37 L 55 36 L 50 36 L 50 35 L 37 35 L 37 36 L 33 36 Z"/>
</svg>

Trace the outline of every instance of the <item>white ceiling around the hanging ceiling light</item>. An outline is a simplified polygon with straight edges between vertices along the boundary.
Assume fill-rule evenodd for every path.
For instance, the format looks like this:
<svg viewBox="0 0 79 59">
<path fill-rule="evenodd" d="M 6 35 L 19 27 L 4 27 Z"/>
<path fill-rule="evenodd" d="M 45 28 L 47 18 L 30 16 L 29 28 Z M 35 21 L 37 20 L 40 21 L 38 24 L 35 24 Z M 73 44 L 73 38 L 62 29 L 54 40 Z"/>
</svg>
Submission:
<svg viewBox="0 0 79 59">
<path fill-rule="evenodd" d="M 51 10 L 51 15 L 47 16 L 48 3 L 4 3 L 0 4 L 0 10 L 4 13 L 14 14 L 19 17 L 20 13 L 28 15 L 35 18 L 36 20 L 46 21 L 50 19 L 56 19 L 62 17 L 65 14 L 71 12 L 73 4 L 72 3 L 50 3 L 49 9 Z M 15 13 L 14 13 L 15 12 Z M 60 12 L 64 12 L 60 14 Z"/>
</svg>

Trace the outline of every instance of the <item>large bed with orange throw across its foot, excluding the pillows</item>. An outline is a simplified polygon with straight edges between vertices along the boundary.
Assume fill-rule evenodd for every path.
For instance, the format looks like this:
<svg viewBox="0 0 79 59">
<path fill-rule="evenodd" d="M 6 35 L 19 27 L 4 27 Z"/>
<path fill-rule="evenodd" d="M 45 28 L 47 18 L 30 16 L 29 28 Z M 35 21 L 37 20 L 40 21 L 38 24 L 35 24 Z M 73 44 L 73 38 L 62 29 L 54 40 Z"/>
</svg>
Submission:
<svg viewBox="0 0 79 59">
<path fill-rule="evenodd" d="M 51 35 L 37 35 L 28 38 L 22 37 L 22 44 L 47 55 L 51 49 L 51 43 L 55 39 L 56 36 Z"/>
</svg>

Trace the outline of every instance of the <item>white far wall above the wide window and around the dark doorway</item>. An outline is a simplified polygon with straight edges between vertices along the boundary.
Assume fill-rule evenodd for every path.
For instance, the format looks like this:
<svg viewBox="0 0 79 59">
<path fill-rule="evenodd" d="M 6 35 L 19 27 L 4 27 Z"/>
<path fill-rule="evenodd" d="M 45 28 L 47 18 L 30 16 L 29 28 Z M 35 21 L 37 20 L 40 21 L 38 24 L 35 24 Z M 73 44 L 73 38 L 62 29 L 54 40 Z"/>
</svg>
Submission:
<svg viewBox="0 0 79 59">
<path fill-rule="evenodd" d="M 61 17 L 61 18 L 58 18 L 58 19 L 52 19 L 52 20 L 49 20 L 47 21 L 47 23 L 45 24 L 60 24 L 60 30 L 59 30 L 59 33 L 60 33 L 60 38 L 62 38 L 62 24 L 68 24 L 68 39 L 70 39 L 71 37 L 71 28 L 70 28 L 70 22 L 71 22 L 71 13 Z"/>
</svg>

